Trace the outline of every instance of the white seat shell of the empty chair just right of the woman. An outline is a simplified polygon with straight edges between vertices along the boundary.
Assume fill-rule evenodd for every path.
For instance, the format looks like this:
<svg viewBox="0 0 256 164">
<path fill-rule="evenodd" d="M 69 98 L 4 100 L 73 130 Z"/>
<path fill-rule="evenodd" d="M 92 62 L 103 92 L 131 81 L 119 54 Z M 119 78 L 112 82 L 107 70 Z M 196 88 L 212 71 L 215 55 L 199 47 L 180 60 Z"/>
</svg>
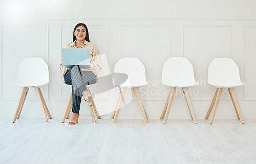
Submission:
<svg viewBox="0 0 256 164">
<path fill-rule="evenodd" d="M 144 65 L 138 58 L 119 59 L 114 68 L 114 83 L 118 73 L 127 75 L 127 79 L 120 85 L 122 87 L 138 87 L 147 84 Z M 118 81 L 122 80 L 118 79 Z"/>
</svg>

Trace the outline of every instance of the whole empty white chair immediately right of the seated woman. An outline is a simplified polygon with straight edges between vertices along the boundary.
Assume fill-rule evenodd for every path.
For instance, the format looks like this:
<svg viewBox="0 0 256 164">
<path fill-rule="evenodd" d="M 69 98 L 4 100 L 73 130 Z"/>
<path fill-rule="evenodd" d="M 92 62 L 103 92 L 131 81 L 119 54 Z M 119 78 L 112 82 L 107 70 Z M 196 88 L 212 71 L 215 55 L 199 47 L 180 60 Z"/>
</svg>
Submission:
<svg viewBox="0 0 256 164">
<path fill-rule="evenodd" d="M 134 93 L 137 97 L 140 110 L 144 119 L 144 122 L 147 123 L 147 115 L 145 112 L 145 108 L 143 106 L 143 103 L 141 101 L 140 93 L 139 93 L 139 86 L 144 86 L 147 83 L 146 81 L 146 74 L 145 74 L 145 68 L 144 65 L 141 63 L 141 61 L 137 58 L 121 58 L 115 65 L 114 68 L 114 84 L 117 85 L 116 81 L 122 81 L 118 79 L 117 75 L 118 73 L 126 74 L 127 79 L 120 85 L 122 87 L 122 91 L 120 93 L 120 96 L 118 98 L 115 111 L 112 115 L 113 123 L 116 123 L 120 107 L 122 105 L 123 97 L 125 95 L 127 87 L 131 87 L 134 90 Z M 123 77 L 123 76 L 122 76 Z"/>
</svg>

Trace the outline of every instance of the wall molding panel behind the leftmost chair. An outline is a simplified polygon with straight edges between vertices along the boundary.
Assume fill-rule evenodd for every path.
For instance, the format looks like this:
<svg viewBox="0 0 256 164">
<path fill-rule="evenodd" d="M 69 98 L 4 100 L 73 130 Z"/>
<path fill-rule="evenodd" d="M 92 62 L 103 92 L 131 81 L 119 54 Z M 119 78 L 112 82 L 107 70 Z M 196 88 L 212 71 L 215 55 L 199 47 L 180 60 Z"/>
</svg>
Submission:
<svg viewBox="0 0 256 164">
<path fill-rule="evenodd" d="M 15 40 L 13 40 L 14 38 Z M 39 57 L 44 59 L 49 67 L 49 25 L 4 25 L 2 26 L 1 47 L 1 100 L 19 100 L 22 87 L 14 86 L 11 83 L 16 80 L 20 62 L 28 57 Z M 41 48 L 44 50 L 39 50 Z M 48 84 L 40 88 L 45 100 L 49 100 Z M 13 96 L 11 93 L 17 94 Z M 26 100 L 37 100 L 31 89 Z"/>
</svg>

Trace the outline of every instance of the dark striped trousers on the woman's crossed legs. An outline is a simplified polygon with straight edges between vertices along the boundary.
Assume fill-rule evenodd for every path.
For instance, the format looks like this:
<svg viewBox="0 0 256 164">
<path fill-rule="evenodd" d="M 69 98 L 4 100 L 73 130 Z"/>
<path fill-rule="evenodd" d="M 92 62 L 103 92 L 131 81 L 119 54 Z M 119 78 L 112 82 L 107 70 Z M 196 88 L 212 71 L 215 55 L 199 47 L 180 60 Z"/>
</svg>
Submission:
<svg viewBox="0 0 256 164">
<path fill-rule="evenodd" d="M 79 113 L 82 92 L 87 90 L 87 85 L 96 83 L 97 76 L 92 71 L 81 71 L 76 65 L 66 72 L 64 80 L 66 84 L 72 85 L 72 112 Z"/>
</svg>

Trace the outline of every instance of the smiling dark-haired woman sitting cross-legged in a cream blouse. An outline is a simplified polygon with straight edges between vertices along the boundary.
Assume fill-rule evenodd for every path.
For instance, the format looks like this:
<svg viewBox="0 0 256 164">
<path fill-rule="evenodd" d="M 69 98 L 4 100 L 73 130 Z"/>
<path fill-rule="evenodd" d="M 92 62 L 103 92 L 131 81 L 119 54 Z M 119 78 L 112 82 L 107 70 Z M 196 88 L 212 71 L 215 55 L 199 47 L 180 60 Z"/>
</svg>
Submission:
<svg viewBox="0 0 256 164">
<path fill-rule="evenodd" d="M 99 58 L 98 47 L 90 42 L 89 33 L 86 24 L 78 23 L 74 28 L 73 42 L 68 43 L 65 48 L 89 48 L 91 68 L 80 68 L 74 66 L 71 69 L 65 68 L 62 64 L 62 58 L 59 64 L 59 72 L 64 76 L 66 84 L 72 85 L 72 114 L 69 121 L 70 125 L 78 123 L 81 97 L 88 103 L 94 98 L 94 94 L 87 91 L 86 85 L 95 84 L 97 76 L 102 67 Z"/>
</svg>

